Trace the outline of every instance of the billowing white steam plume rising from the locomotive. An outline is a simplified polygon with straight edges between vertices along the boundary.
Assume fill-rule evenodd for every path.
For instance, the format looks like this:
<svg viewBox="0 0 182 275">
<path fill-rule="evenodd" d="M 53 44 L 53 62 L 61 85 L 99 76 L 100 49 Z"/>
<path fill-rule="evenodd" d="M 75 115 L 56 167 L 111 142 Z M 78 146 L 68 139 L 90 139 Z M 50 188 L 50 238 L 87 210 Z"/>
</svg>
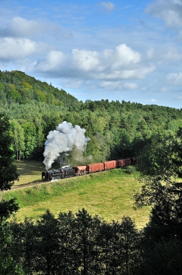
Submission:
<svg viewBox="0 0 182 275">
<path fill-rule="evenodd" d="M 61 153 L 76 152 L 77 155 L 82 156 L 84 148 L 87 146 L 89 137 L 85 137 L 85 129 L 80 126 L 73 125 L 70 122 L 62 122 L 58 124 L 56 130 L 50 131 L 47 135 L 47 141 L 45 142 L 45 151 L 43 153 L 45 159 L 46 170 L 51 168 L 54 161 L 60 156 Z"/>
</svg>

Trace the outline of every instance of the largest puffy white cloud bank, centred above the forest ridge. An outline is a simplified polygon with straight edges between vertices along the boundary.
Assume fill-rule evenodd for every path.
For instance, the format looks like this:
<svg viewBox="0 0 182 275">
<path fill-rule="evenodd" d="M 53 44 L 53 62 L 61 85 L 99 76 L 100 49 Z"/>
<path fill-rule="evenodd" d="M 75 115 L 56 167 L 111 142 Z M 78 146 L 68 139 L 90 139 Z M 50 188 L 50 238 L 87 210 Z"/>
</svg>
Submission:
<svg viewBox="0 0 182 275">
<path fill-rule="evenodd" d="M 73 49 L 71 54 L 52 51 L 34 65 L 38 72 L 54 72 L 55 76 L 117 81 L 141 79 L 154 71 L 155 66 L 144 65 L 141 54 L 126 44 L 115 50 L 102 52 Z"/>
</svg>

